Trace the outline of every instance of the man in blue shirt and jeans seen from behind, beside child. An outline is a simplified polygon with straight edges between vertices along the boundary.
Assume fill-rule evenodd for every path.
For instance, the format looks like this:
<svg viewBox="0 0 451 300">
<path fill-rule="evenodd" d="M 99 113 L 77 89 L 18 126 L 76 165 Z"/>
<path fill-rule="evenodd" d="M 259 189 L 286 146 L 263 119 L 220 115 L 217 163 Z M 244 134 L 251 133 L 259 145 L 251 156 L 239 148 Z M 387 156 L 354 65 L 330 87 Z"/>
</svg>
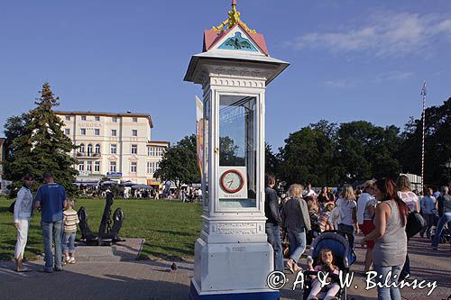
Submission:
<svg viewBox="0 0 451 300">
<path fill-rule="evenodd" d="M 61 271 L 61 239 L 62 239 L 62 210 L 66 207 L 66 190 L 53 180 L 51 172 L 42 175 L 43 186 L 39 186 L 35 206 L 41 208 L 41 229 L 44 239 L 45 267 L 44 272 L 51 273 L 53 267 Z M 55 242 L 55 257 L 51 253 L 51 245 Z M 55 262 L 53 266 L 53 261 Z"/>
</svg>

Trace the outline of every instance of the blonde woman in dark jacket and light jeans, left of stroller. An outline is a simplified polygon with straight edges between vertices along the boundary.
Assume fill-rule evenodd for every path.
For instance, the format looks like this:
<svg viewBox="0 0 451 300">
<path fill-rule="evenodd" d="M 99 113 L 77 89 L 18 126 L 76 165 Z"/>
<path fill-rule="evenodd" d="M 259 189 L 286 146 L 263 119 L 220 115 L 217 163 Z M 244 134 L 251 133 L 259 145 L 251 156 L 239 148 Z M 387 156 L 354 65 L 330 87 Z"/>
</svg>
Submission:
<svg viewBox="0 0 451 300">
<path fill-rule="evenodd" d="M 291 185 L 289 188 L 290 199 L 281 210 L 282 229 L 288 233 L 290 242 L 290 259 L 286 267 L 291 273 L 299 272 L 298 260 L 307 246 L 307 232 L 311 230 L 308 206 L 302 198 L 302 186 Z"/>
</svg>

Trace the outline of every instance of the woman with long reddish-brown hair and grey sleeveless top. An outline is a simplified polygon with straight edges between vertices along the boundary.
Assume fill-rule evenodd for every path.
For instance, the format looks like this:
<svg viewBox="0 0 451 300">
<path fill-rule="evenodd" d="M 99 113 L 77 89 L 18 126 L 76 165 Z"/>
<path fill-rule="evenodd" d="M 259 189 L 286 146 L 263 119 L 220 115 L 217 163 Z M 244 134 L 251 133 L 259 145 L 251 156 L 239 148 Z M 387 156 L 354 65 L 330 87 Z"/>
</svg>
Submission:
<svg viewBox="0 0 451 300">
<path fill-rule="evenodd" d="M 390 178 L 376 181 L 374 195 L 381 201 L 376 206 L 375 229 L 365 235 L 360 243 L 364 246 L 367 241 L 375 240 L 373 266 L 380 284 L 377 287 L 377 298 L 400 300 L 400 290 L 393 284 L 398 283 L 400 270 L 406 260 L 406 223 L 409 208 L 398 196 L 396 185 Z"/>
</svg>

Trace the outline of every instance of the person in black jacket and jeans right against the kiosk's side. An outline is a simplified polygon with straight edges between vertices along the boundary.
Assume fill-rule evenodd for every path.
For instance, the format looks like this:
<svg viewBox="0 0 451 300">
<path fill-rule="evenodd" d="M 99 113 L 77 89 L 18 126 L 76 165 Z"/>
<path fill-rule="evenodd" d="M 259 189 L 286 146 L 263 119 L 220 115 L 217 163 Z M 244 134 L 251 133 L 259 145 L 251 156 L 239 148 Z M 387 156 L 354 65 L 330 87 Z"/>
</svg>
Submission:
<svg viewBox="0 0 451 300">
<path fill-rule="evenodd" d="M 279 213 L 279 197 L 273 188 L 276 184 L 276 177 L 273 174 L 265 174 L 264 180 L 266 184 L 264 188 L 265 232 L 274 251 L 274 270 L 282 272 L 281 214 Z"/>
</svg>

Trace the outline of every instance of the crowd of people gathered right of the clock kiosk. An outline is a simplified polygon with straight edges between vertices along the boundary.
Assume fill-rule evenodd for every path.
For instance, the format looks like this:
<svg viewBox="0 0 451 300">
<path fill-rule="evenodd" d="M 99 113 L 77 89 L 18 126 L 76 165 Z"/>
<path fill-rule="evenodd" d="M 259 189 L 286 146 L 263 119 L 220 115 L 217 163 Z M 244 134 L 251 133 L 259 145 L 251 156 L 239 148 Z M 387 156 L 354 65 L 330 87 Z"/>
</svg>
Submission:
<svg viewBox="0 0 451 300">
<path fill-rule="evenodd" d="M 426 235 L 432 250 L 437 250 L 446 225 L 451 235 L 448 186 L 443 186 L 440 193 L 425 188 L 423 195 L 419 195 L 412 191 L 409 178 L 401 175 L 397 182 L 390 178 L 372 179 L 356 190 L 345 185 L 336 193 L 332 188 L 323 187 L 317 194 L 310 183 L 305 188 L 294 184 L 285 195 L 274 189 L 274 175 L 266 174 L 265 184 L 266 233 L 273 248 L 274 269 L 278 271 L 301 270 L 299 259 L 307 245 L 322 232 L 335 230 L 334 233 L 347 238 L 350 249 L 354 249 L 356 234 L 361 233 L 359 242 L 366 248 L 364 272 L 376 271 L 382 275 L 378 277 L 380 282 L 391 274 L 388 282 L 399 282 L 410 277 L 406 226 L 411 213 L 420 213 L 426 221 L 419 235 L 421 238 Z M 435 234 L 432 234 L 433 228 Z M 331 250 L 321 252 L 323 260 L 319 266 L 336 272 L 329 257 L 333 254 L 329 252 Z M 308 269 L 312 268 L 310 261 L 307 265 Z M 327 299 L 333 299 L 336 294 L 330 287 Z M 318 292 L 318 288 L 313 288 L 308 299 L 315 299 Z M 378 287 L 378 297 L 400 299 L 400 291 L 394 286 Z"/>
</svg>

